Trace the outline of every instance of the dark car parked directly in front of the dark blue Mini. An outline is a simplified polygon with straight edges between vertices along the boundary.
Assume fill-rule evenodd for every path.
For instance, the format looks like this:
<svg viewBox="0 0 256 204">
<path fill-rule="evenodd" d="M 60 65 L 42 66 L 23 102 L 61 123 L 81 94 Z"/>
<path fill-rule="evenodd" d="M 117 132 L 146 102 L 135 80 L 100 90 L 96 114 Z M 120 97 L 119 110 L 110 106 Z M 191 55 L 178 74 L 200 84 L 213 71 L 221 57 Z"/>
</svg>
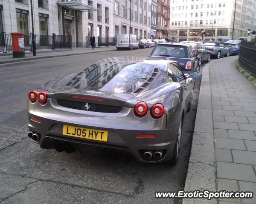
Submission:
<svg viewBox="0 0 256 204">
<path fill-rule="evenodd" d="M 195 56 L 199 58 L 199 66 L 201 66 L 202 62 L 209 62 L 211 59 L 210 51 L 204 47 L 202 42 L 195 42 L 195 41 L 182 41 L 180 43 L 189 44 L 192 46 Z"/>
</svg>

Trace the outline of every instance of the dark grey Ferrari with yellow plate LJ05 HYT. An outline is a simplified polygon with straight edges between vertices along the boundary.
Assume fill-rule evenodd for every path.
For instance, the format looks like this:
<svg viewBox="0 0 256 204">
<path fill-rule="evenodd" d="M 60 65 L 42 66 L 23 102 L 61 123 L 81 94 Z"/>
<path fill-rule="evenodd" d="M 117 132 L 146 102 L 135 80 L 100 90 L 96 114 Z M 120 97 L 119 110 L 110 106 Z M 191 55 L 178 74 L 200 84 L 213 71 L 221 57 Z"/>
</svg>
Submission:
<svg viewBox="0 0 256 204">
<path fill-rule="evenodd" d="M 168 60 L 102 59 L 29 92 L 28 136 L 59 152 L 112 148 L 176 164 L 193 87 Z"/>
</svg>

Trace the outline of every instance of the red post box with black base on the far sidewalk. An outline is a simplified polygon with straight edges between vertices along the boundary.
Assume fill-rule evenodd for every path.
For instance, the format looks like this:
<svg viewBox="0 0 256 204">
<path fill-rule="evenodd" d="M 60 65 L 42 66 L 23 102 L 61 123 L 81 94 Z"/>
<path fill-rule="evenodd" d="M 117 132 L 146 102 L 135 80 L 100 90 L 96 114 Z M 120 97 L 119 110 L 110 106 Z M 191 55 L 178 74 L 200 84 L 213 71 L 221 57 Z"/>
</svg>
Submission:
<svg viewBox="0 0 256 204">
<path fill-rule="evenodd" d="M 24 34 L 11 33 L 12 34 L 12 57 L 21 58 L 25 57 L 25 44 Z"/>
</svg>

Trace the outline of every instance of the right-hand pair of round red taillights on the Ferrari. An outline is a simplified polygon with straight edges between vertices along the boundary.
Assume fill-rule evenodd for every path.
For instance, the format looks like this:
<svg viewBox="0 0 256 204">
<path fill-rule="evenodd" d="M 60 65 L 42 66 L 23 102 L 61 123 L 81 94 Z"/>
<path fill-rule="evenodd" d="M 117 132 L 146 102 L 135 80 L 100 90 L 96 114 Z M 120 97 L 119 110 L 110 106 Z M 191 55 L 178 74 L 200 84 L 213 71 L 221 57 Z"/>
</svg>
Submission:
<svg viewBox="0 0 256 204">
<path fill-rule="evenodd" d="M 138 116 L 145 116 L 146 113 L 148 112 L 147 103 L 144 101 L 137 103 L 135 105 L 134 111 Z M 151 115 L 154 116 L 155 118 L 160 118 L 161 116 L 163 116 L 163 113 L 164 113 L 164 107 L 162 104 L 157 103 L 152 106 Z"/>
</svg>

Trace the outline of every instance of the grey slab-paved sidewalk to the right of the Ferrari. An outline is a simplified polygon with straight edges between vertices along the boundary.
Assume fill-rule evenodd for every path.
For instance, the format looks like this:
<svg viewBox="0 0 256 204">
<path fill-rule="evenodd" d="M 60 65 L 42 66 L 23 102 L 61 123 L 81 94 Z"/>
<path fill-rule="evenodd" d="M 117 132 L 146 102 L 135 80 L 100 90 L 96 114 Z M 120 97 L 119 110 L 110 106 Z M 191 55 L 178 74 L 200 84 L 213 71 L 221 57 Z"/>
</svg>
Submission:
<svg viewBox="0 0 256 204">
<path fill-rule="evenodd" d="M 218 190 L 253 191 L 253 199 L 219 204 L 256 204 L 256 89 L 235 68 L 237 56 L 209 67 Z"/>
</svg>

